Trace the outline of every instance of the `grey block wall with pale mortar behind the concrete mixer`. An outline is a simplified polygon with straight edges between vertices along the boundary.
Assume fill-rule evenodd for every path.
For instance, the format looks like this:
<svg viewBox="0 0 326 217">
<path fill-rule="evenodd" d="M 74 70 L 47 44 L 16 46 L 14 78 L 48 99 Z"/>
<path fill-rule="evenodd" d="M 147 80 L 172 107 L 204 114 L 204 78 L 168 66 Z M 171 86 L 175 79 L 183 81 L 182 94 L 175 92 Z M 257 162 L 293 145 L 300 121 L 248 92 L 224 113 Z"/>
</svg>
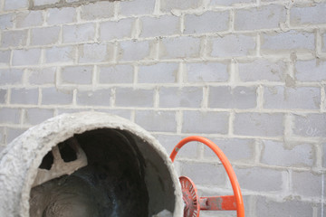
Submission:
<svg viewBox="0 0 326 217">
<path fill-rule="evenodd" d="M 0 0 L 1 149 L 58 114 L 109 112 L 168 153 L 216 142 L 246 216 L 326 216 L 326 1 L 89 2 Z M 177 159 L 203 195 L 231 192 L 203 145 Z"/>
</svg>

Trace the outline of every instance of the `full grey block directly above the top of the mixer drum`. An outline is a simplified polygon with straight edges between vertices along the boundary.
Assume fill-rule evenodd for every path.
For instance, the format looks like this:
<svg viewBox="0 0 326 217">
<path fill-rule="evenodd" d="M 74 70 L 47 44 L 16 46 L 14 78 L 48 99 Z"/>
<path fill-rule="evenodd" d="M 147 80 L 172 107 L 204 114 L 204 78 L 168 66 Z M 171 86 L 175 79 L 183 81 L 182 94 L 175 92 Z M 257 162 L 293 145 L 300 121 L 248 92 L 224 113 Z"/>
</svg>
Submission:
<svg viewBox="0 0 326 217">
<path fill-rule="evenodd" d="M 110 106 L 110 89 L 79 90 L 77 93 L 77 104 L 86 106 Z"/>
</svg>

